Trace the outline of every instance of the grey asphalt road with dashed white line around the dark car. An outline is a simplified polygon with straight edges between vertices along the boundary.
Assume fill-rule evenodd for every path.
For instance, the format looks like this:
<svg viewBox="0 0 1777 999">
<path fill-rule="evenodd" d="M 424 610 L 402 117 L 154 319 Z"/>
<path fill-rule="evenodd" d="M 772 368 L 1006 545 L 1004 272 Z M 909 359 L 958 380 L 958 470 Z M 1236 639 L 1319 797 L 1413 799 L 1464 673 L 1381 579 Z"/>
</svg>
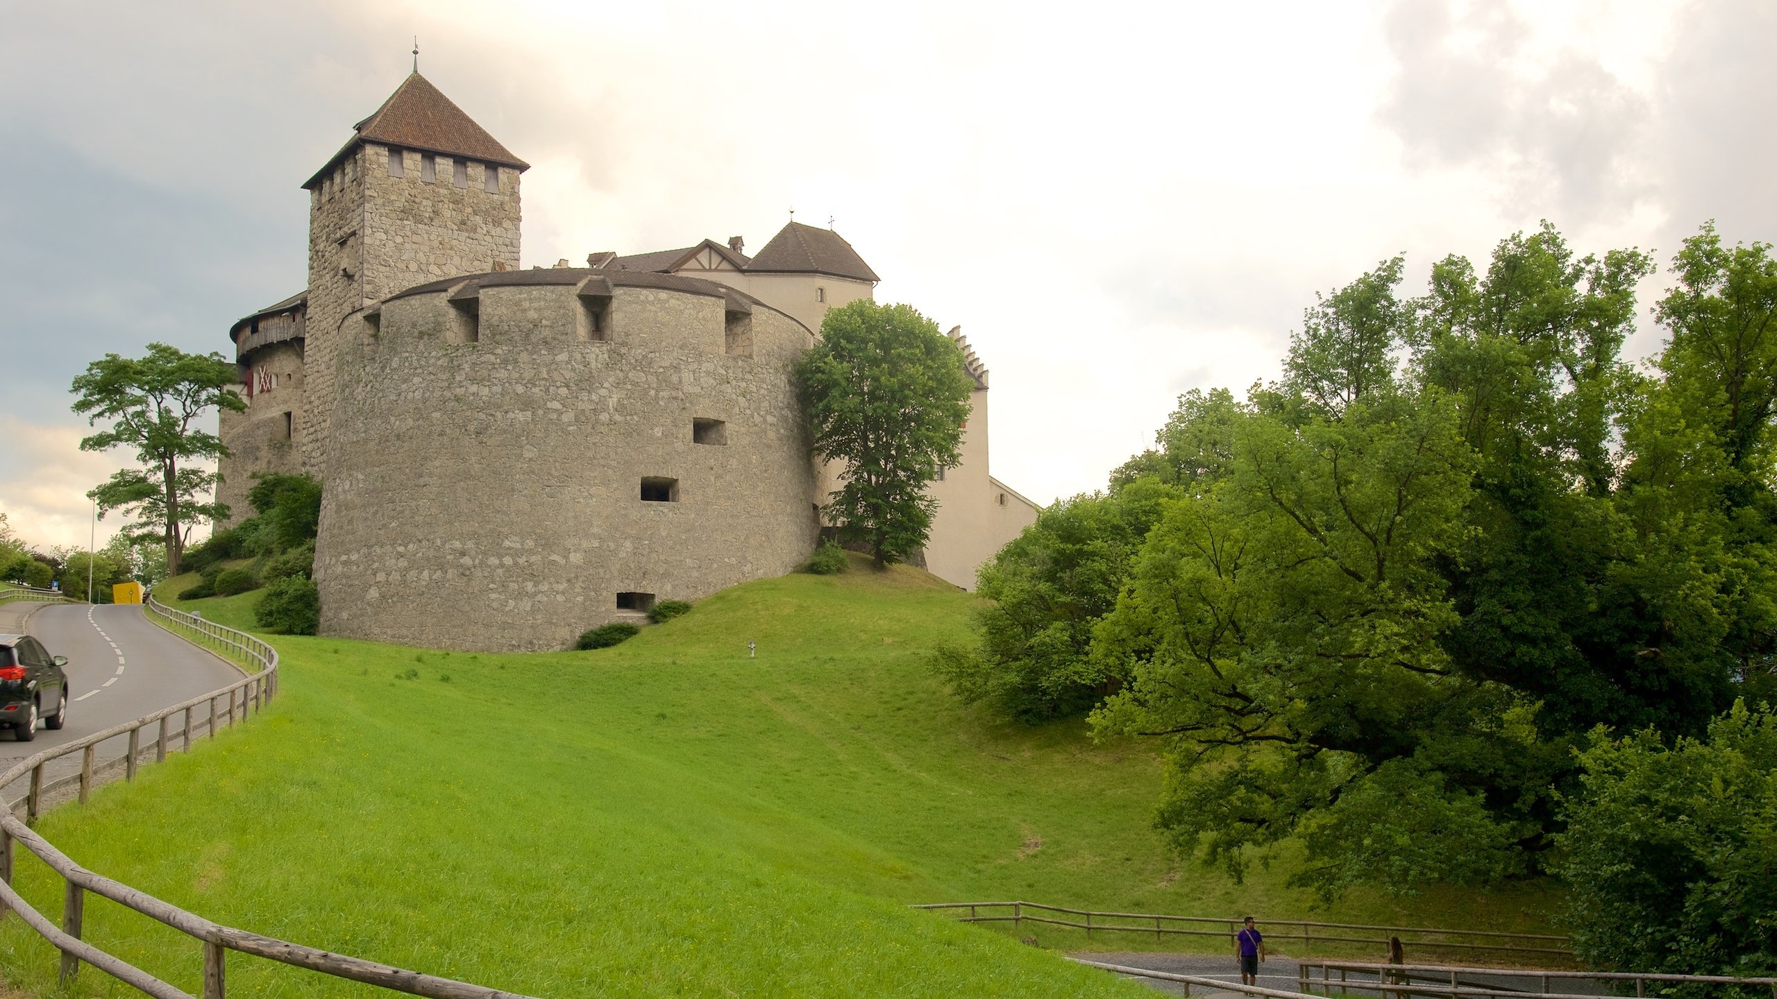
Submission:
<svg viewBox="0 0 1777 999">
<path fill-rule="evenodd" d="M 0 770 L 44 748 L 69 743 L 140 718 L 158 707 L 190 700 L 201 693 L 240 679 L 240 670 L 176 638 L 142 615 L 135 604 L 0 604 L 0 631 L 36 635 L 50 654 L 68 656 L 68 725 L 52 732 L 39 725 L 37 738 L 20 743 L 11 732 L 0 734 Z M 48 715 L 55 706 L 46 704 Z M 204 716 L 208 722 L 208 715 Z M 174 718 L 178 729 L 183 718 Z M 199 731 L 203 731 L 199 727 Z M 144 745 L 153 732 L 144 732 Z M 128 738 L 107 739 L 98 759 L 123 757 Z M 80 754 L 69 754 L 44 768 L 48 779 L 80 770 Z M 7 800 L 23 795 L 25 784 L 4 791 Z"/>
</svg>

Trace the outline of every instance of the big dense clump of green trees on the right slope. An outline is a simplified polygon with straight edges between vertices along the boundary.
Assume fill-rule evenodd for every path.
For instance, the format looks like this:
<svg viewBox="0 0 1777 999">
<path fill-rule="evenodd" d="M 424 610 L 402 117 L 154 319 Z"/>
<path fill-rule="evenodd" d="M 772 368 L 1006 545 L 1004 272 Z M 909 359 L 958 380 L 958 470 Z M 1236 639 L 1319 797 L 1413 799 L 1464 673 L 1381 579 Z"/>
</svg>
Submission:
<svg viewBox="0 0 1777 999">
<path fill-rule="evenodd" d="M 1542 226 L 1418 297 L 1383 261 L 1279 380 L 1183 396 L 1045 510 L 940 668 L 1160 739 L 1160 827 L 1233 871 L 1287 839 L 1327 896 L 1553 869 L 1599 727 L 1701 739 L 1777 691 L 1777 260 L 1706 226 L 1672 263 L 1638 368 L 1640 251 Z"/>
</svg>

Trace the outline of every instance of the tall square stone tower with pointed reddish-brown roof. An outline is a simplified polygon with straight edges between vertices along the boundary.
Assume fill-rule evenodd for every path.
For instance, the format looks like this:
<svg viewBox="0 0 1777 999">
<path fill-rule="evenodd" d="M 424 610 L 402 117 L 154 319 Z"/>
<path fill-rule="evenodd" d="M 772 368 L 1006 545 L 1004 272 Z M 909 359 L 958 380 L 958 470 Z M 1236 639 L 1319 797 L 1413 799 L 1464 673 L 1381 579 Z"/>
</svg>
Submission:
<svg viewBox="0 0 1777 999">
<path fill-rule="evenodd" d="M 341 324 L 414 284 L 517 270 L 519 174 L 528 167 L 416 71 L 302 185 L 306 391 L 291 444 L 304 471 L 318 476 L 327 464 L 334 356 L 341 336 L 355 334 Z"/>
</svg>

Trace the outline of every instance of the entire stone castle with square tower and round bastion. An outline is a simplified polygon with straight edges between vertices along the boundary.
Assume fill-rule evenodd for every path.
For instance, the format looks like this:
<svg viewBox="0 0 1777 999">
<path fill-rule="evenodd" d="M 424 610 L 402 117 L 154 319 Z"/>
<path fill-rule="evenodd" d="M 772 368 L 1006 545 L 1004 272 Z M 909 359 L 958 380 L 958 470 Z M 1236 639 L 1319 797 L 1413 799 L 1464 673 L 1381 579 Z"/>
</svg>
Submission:
<svg viewBox="0 0 1777 999">
<path fill-rule="evenodd" d="M 302 187 L 307 290 L 229 331 L 217 498 L 258 471 L 323 484 L 322 633 L 560 649 L 586 627 L 789 572 L 835 487 L 791 372 L 876 272 L 791 222 L 586 267 L 519 268 L 528 169 L 418 71 Z M 976 567 L 1034 521 L 988 475 L 988 372 L 961 464 L 929 484 L 929 571 Z"/>
</svg>

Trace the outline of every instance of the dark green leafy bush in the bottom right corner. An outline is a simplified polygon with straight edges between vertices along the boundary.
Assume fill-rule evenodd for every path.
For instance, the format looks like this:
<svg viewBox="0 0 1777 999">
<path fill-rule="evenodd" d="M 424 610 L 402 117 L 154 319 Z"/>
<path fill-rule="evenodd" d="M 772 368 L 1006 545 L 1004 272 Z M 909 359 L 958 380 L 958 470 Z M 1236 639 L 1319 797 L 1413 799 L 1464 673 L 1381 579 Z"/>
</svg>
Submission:
<svg viewBox="0 0 1777 999">
<path fill-rule="evenodd" d="M 1583 791 L 1566 802 L 1560 835 L 1580 960 L 1614 971 L 1777 974 L 1772 707 L 1736 702 L 1704 739 L 1670 745 L 1653 729 L 1624 738 L 1599 729 L 1580 768 Z"/>
</svg>

